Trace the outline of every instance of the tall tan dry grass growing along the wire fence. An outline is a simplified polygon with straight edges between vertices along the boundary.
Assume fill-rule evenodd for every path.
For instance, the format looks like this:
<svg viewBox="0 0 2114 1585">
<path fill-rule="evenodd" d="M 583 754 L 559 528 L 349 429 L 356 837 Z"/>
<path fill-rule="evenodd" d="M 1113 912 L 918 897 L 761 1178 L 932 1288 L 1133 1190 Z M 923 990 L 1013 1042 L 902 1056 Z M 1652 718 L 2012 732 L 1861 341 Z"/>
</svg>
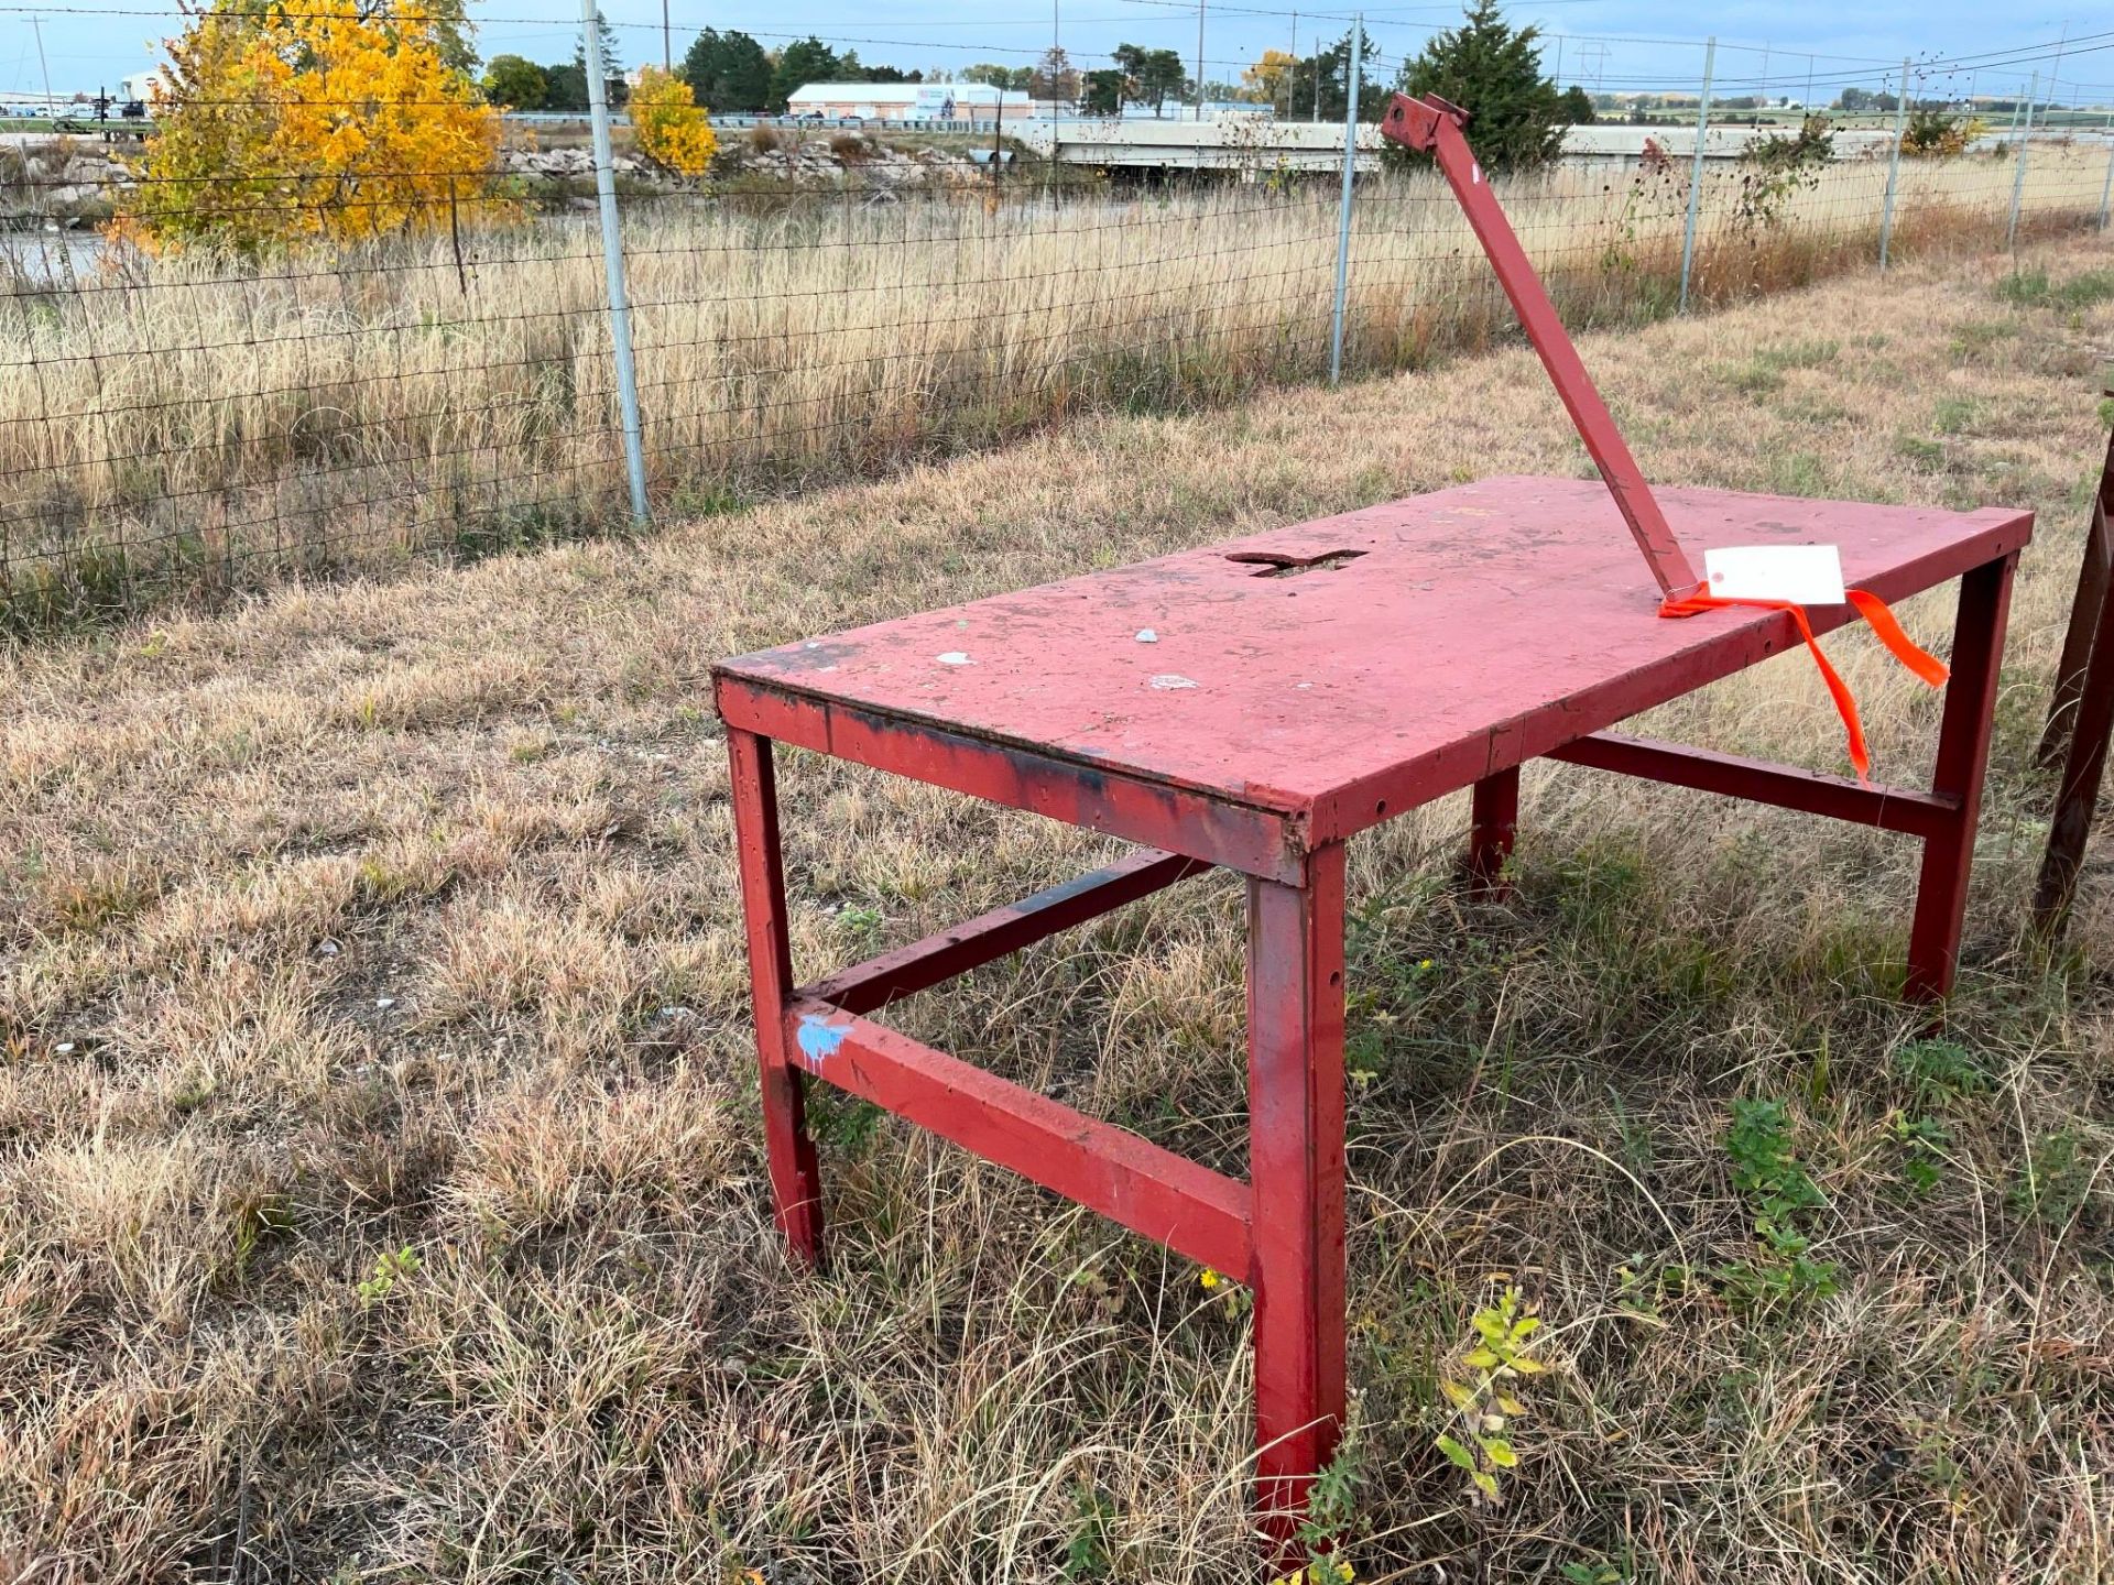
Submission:
<svg viewBox="0 0 2114 1585">
<path fill-rule="evenodd" d="M 2036 150 L 2027 232 L 2097 211 L 2103 156 Z M 1505 201 L 1577 323 L 1674 300 L 1685 171 L 1564 167 Z M 2002 237 L 2013 167 L 1911 165 L 1900 256 Z M 1877 251 L 1886 169 L 1829 167 L 1755 213 L 1708 178 L 1702 300 Z M 1049 203 L 1032 182 L 641 197 L 630 292 L 651 490 L 672 516 L 871 476 L 1097 410 L 1186 410 L 1328 368 L 1325 184 Z M 1742 218 L 1744 216 L 1744 218 Z M 264 268 L 25 241 L 0 311 L 0 632 L 266 575 L 539 545 L 628 520 L 588 216 Z M 1357 209 L 1347 363 L 1484 347 L 1509 315 L 1435 178 Z M 0 262 L 4 275 L 4 262 Z M 61 283 L 53 287 L 53 283 Z M 53 290 L 47 290 L 53 287 Z"/>
</svg>

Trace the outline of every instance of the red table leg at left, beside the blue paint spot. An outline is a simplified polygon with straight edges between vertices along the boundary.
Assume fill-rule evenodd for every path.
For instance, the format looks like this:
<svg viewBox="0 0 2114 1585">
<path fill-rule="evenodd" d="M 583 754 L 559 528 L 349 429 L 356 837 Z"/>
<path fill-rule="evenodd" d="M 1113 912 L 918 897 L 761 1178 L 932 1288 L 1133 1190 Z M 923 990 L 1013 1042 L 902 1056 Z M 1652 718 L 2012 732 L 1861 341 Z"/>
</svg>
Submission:
<svg viewBox="0 0 2114 1585">
<path fill-rule="evenodd" d="M 786 943 L 784 856 L 778 841 L 778 778 L 772 742 L 727 729 L 734 784 L 734 843 L 740 852 L 742 917 L 748 924 L 748 987 L 757 1021 L 757 1063 L 763 1080 L 763 1141 L 772 1162 L 772 1209 L 793 1253 L 822 1260 L 822 1173 L 808 1137 L 808 1076 L 793 1065 L 784 1040 L 793 949 Z"/>
</svg>

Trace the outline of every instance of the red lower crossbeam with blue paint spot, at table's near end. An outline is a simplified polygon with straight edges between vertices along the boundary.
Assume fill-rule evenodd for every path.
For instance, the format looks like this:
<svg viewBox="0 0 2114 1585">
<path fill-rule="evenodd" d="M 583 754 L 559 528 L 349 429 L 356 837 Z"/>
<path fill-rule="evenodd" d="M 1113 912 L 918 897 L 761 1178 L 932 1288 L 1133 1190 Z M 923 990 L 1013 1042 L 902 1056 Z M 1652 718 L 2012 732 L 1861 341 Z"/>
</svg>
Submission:
<svg viewBox="0 0 2114 1585">
<path fill-rule="evenodd" d="M 827 1002 L 786 1006 L 784 1040 L 814 1078 L 1175 1253 L 1249 1276 L 1245 1183 Z"/>
</svg>

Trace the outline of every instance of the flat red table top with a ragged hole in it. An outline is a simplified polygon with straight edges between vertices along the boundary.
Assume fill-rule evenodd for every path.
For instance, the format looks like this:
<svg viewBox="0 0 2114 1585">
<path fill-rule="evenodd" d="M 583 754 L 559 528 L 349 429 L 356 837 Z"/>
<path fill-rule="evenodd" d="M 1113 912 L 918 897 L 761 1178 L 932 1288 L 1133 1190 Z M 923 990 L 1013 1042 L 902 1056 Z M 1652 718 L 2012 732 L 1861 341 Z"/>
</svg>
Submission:
<svg viewBox="0 0 2114 1585">
<path fill-rule="evenodd" d="M 1698 566 L 1706 547 L 1835 543 L 1848 581 L 1884 600 L 2032 535 L 2032 514 L 2008 507 L 1727 490 L 1659 503 Z M 1262 560 L 1334 552 L 1357 556 L 1298 575 Z M 1657 604 L 1600 482 L 1499 478 L 740 655 L 715 674 L 1311 814 L 1374 784 L 1435 797 L 1795 642 L 1780 613 L 1670 621 Z M 1820 630 L 1848 615 L 1812 613 Z"/>
</svg>

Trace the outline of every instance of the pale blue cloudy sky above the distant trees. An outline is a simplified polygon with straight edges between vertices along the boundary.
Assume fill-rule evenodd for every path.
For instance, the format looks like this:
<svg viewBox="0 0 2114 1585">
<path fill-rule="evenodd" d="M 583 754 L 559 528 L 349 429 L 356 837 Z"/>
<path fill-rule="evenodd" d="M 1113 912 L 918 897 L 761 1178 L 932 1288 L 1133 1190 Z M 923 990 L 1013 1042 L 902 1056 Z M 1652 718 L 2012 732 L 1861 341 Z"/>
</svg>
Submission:
<svg viewBox="0 0 2114 1585">
<path fill-rule="evenodd" d="M 1334 40 L 1347 27 L 1349 6 L 1321 0 L 1328 13 L 1298 15 L 1290 0 L 1239 0 L 1205 11 L 1205 74 L 1239 80 L 1241 68 L 1264 49 L 1311 53 L 1315 36 Z M 2076 0 L 2057 0 L 2076 4 Z M 161 55 L 161 38 L 182 25 L 173 0 L 74 0 L 74 8 L 38 13 L 0 0 L 0 97 L 36 93 L 42 76 L 36 30 L 40 17 L 44 61 L 57 93 L 116 85 Z M 1197 6 L 1192 0 L 1059 0 L 1057 15 L 1032 0 L 668 0 L 674 55 L 681 59 L 700 27 L 738 27 L 765 49 L 810 32 L 837 49 L 856 49 L 873 63 L 962 68 L 972 61 L 1032 61 L 1049 46 L 1053 30 L 1080 68 L 1108 63 L 1118 42 L 1165 46 L 1194 61 Z M 617 30 L 626 63 L 662 57 L 660 0 L 602 0 Z M 93 15 L 82 15 L 82 13 Z M 1543 66 L 1569 82 L 1628 89 L 1689 87 L 1702 76 L 1702 38 L 1717 34 L 1719 93 L 1742 95 L 1767 87 L 1774 95 L 1831 99 L 1846 82 L 1881 87 L 1898 72 L 1903 55 L 1917 59 L 1917 93 L 2015 93 L 2038 70 L 2061 80 L 2065 104 L 2114 104 L 2114 15 L 2106 6 L 2038 11 L 2032 0 L 2017 11 L 1989 0 L 1731 0 L 1714 8 L 1670 0 L 1541 0 L 1522 4 L 1520 21 L 1550 34 Z M 558 61 L 573 53 L 579 6 L 567 0 L 471 0 L 478 46 L 486 57 L 514 53 Z M 1414 55 L 1438 27 L 1459 17 L 1457 6 L 1374 6 L 1368 30 L 1389 68 Z M 2070 34 L 2061 61 L 2057 42 Z M 1970 59 L 1981 57 L 1981 59 Z M 1922 66 L 1934 61 L 1936 70 Z M 1391 74 L 1391 70 L 1389 70 Z"/>
</svg>

